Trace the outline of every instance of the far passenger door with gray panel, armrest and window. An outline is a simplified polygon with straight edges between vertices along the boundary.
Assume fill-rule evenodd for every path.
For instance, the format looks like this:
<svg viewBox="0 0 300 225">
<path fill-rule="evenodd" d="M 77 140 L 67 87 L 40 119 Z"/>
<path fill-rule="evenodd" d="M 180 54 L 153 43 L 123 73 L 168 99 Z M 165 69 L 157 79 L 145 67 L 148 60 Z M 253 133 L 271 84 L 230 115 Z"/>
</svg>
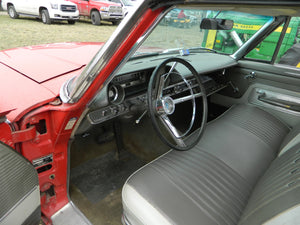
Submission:
<svg viewBox="0 0 300 225">
<path fill-rule="evenodd" d="M 256 105 L 276 115 L 290 127 L 300 121 L 300 18 L 283 25 L 257 44 L 238 66 L 226 71 L 230 83 L 213 96 L 215 103 Z M 246 33 L 246 32 L 245 32 Z M 245 35 L 239 34 L 240 37 Z"/>
</svg>

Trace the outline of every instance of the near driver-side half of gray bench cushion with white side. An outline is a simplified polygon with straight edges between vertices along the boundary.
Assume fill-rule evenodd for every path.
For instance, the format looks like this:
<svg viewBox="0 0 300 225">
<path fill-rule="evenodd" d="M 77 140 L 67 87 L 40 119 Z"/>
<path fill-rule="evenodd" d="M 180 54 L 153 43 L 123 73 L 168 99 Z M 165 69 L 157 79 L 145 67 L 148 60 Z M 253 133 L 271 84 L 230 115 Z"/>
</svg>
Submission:
<svg viewBox="0 0 300 225">
<path fill-rule="evenodd" d="M 236 224 L 250 191 L 246 180 L 215 156 L 199 148 L 171 151 L 127 181 L 124 215 L 130 224 L 188 225 L 200 218 L 203 224 Z M 154 212 L 144 208 L 144 201 Z M 164 220 L 151 221 L 158 217 Z"/>
</svg>

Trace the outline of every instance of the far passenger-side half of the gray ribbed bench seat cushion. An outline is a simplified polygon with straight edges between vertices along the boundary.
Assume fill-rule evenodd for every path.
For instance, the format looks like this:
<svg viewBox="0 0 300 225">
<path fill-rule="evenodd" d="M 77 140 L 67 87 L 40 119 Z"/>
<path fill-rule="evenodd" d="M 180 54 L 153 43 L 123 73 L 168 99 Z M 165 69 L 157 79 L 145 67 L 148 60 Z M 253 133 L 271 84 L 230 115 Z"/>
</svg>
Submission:
<svg viewBox="0 0 300 225">
<path fill-rule="evenodd" d="M 224 161 L 253 186 L 288 132 L 287 126 L 265 111 L 236 105 L 207 126 L 198 148 Z"/>
</svg>

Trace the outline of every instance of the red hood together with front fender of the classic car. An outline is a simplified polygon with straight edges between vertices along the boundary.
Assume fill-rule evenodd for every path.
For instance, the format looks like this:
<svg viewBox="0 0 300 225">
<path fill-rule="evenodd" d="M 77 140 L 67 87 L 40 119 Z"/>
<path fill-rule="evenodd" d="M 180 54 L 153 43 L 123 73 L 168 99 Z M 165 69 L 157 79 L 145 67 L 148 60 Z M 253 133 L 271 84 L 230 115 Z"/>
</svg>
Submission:
<svg viewBox="0 0 300 225">
<path fill-rule="evenodd" d="M 59 95 L 62 84 L 80 74 L 103 43 L 60 43 L 0 52 L 0 114 L 14 121 Z M 12 111 L 11 111 L 12 110 Z"/>
</svg>

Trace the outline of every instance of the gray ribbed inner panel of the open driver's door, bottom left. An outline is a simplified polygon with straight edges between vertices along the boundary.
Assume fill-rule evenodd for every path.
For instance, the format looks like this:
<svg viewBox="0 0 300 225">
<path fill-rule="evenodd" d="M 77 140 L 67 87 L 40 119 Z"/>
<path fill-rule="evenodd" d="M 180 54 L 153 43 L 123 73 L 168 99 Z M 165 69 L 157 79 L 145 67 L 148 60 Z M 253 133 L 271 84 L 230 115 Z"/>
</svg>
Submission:
<svg viewBox="0 0 300 225">
<path fill-rule="evenodd" d="M 32 164 L 0 142 L 0 225 L 35 225 L 41 218 L 38 175 Z"/>
</svg>

